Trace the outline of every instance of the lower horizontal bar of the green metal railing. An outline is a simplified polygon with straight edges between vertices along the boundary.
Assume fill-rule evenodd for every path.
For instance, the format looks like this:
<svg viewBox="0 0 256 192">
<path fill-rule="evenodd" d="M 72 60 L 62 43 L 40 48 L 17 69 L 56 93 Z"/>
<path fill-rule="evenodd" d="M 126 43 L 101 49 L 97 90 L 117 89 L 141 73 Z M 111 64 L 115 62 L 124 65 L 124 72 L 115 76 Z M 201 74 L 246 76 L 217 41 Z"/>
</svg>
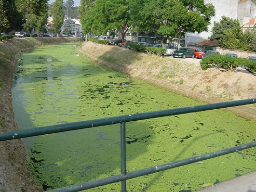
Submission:
<svg viewBox="0 0 256 192">
<path fill-rule="evenodd" d="M 162 165 L 158 165 L 158 166 L 151 166 L 148 168 L 139 169 L 136 171 L 128 172 L 126 175 L 115 175 L 115 176 L 111 176 L 108 178 L 96 179 L 94 181 L 88 181 L 88 182 L 81 183 L 81 184 L 70 185 L 67 187 L 58 188 L 58 189 L 50 190 L 47 192 L 79 192 L 82 190 L 92 189 L 94 187 L 99 187 L 102 185 L 107 185 L 110 183 L 115 183 L 115 182 L 119 182 L 119 181 L 126 180 L 126 179 L 132 179 L 132 178 L 140 177 L 143 175 L 148 175 L 151 173 L 156 173 L 159 171 L 172 169 L 172 168 L 179 167 L 179 166 L 185 166 L 185 165 L 188 165 L 191 163 L 195 163 L 195 162 L 206 160 L 206 159 L 211 159 L 211 158 L 225 155 L 225 154 L 230 154 L 230 153 L 241 151 L 241 150 L 248 149 L 251 147 L 256 147 L 256 141 L 250 142 L 250 143 L 245 143 L 243 145 L 238 145 L 235 147 L 230 147 L 228 149 L 223 149 L 223 150 L 216 151 L 216 152 L 211 152 L 208 154 L 202 154 L 202 155 L 190 157 L 187 159 L 174 161 L 174 162 L 167 163 L 167 164 L 162 164 Z"/>
</svg>

